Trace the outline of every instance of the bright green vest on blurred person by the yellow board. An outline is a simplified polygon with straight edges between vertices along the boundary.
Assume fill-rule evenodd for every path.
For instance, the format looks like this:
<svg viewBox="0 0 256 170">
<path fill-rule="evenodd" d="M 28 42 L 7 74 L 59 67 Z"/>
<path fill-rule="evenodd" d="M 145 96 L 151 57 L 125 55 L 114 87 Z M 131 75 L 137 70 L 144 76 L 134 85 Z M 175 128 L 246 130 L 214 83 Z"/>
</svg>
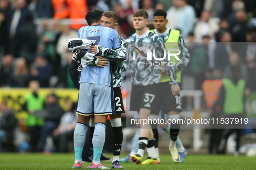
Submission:
<svg viewBox="0 0 256 170">
<path fill-rule="evenodd" d="M 36 98 L 32 93 L 27 94 L 25 96 L 27 102 L 27 110 L 42 110 L 44 106 L 44 98 L 40 95 Z M 42 126 L 44 124 L 44 120 L 42 118 L 37 118 L 33 114 L 27 113 L 26 116 L 26 126 Z"/>
</svg>

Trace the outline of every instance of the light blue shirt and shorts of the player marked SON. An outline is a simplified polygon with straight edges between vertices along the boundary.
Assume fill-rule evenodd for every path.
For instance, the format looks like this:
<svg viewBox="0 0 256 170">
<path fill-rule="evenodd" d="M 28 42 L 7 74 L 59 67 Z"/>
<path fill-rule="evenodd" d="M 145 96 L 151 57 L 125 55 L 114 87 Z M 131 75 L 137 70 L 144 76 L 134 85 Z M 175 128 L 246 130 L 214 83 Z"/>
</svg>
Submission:
<svg viewBox="0 0 256 170">
<path fill-rule="evenodd" d="M 78 38 L 89 39 L 95 45 L 101 45 L 113 50 L 121 47 L 117 31 L 101 25 L 83 26 L 78 31 Z M 109 58 L 108 61 L 109 63 L 105 67 L 86 66 L 82 69 L 79 80 L 79 83 L 82 84 L 80 85 L 78 98 L 78 114 L 92 115 L 94 113 L 94 115 L 105 115 L 115 113 L 114 108 L 112 108 L 114 107 L 114 101 L 111 59 Z M 84 95 L 89 96 L 85 98 Z M 110 98 L 110 96 L 112 97 Z"/>
</svg>

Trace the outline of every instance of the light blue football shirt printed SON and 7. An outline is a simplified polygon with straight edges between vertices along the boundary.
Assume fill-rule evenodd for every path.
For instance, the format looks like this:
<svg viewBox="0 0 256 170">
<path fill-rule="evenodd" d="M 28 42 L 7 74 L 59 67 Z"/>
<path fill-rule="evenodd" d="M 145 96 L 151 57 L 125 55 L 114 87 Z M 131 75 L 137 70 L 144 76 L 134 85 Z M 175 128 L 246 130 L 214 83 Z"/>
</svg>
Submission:
<svg viewBox="0 0 256 170">
<path fill-rule="evenodd" d="M 83 26 L 78 31 L 78 38 L 91 40 L 96 45 L 101 45 L 103 47 L 107 47 L 113 50 L 117 50 L 121 47 L 119 44 L 117 31 L 101 25 Z M 107 66 L 84 67 L 81 72 L 79 83 L 91 83 L 113 87 L 111 74 L 111 59 L 107 59 Z"/>
</svg>

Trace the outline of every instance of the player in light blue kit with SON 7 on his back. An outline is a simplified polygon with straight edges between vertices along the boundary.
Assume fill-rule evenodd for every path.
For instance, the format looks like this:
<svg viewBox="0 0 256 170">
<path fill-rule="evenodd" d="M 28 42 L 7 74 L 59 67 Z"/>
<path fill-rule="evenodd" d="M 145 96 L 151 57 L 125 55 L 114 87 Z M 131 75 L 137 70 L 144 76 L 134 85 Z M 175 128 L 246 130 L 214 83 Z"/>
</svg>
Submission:
<svg viewBox="0 0 256 170">
<path fill-rule="evenodd" d="M 96 45 L 108 47 L 113 50 L 121 48 L 116 30 L 100 25 L 102 12 L 99 10 L 89 11 L 85 19 L 88 25 L 78 31 L 78 38 L 89 39 Z M 90 51 L 88 51 L 90 52 Z M 74 132 L 75 165 L 73 169 L 82 167 L 82 151 L 85 142 L 85 131 L 91 115 L 94 114 L 94 157 L 88 169 L 109 169 L 100 164 L 100 155 L 105 143 L 105 130 L 107 115 L 115 114 L 113 99 L 113 79 L 111 59 L 107 66 L 85 66 L 79 79 L 80 88 L 78 95 L 78 123 Z"/>
</svg>

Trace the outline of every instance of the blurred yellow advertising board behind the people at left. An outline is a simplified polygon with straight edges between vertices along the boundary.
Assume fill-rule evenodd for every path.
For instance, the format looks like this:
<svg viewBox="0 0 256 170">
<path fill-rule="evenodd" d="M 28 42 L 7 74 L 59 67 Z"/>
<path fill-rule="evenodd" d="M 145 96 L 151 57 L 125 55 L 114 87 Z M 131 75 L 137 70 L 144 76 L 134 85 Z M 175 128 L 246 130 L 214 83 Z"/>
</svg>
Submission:
<svg viewBox="0 0 256 170">
<path fill-rule="evenodd" d="M 0 88 L 0 102 L 6 101 L 8 107 L 13 109 L 16 113 L 17 119 L 23 119 L 26 116 L 26 111 L 23 110 L 22 105 L 25 104 L 24 96 L 30 93 L 29 88 Z M 41 88 L 39 95 L 46 98 L 47 95 L 54 93 L 58 96 L 59 104 L 63 110 L 66 110 L 67 100 L 77 102 L 78 90 L 70 88 Z"/>
</svg>

